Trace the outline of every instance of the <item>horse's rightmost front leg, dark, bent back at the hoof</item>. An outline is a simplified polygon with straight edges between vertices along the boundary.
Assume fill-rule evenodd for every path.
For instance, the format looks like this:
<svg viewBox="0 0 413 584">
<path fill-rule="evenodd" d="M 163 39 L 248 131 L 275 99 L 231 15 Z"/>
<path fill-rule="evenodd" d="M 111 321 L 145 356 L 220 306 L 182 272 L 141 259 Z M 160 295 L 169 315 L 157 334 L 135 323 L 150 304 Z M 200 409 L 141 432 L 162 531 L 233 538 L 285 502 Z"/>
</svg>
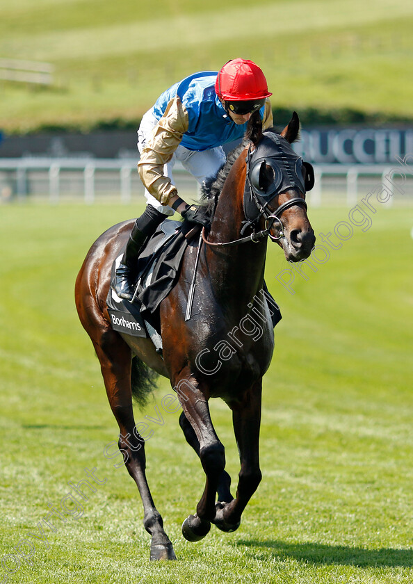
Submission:
<svg viewBox="0 0 413 584">
<path fill-rule="evenodd" d="M 236 496 L 230 502 L 218 502 L 215 524 L 222 531 L 235 531 L 241 514 L 261 481 L 259 469 L 259 426 L 261 422 L 262 380 L 255 383 L 241 403 L 229 402 L 232 409 L 236 444 L 241 460 Z"/>
</svg>

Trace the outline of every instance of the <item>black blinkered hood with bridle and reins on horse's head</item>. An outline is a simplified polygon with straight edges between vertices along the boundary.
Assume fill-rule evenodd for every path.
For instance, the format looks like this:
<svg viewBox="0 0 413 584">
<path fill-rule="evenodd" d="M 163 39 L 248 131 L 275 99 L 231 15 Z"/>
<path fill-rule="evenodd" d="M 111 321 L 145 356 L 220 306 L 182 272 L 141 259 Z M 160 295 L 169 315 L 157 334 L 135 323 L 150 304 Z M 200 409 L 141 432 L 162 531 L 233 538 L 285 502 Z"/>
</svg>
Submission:
<svg viewBox="0 0 413 584">
<path fill-rule="evenodd" d="M 271 200 L 282 190 L 295 188 L 305 193 L 305 183 L 302 179 L 301 167 L 302 159 L 297 156 L 289 143 L 282 138 L 285 143 L 282 145 L 281 140 L 277 134 L 273 132 L 265 132 L 258 147 L 251 152 L 251 146 L 248 148 L 247 154 L 247 178 L 245 179 L 244 190 L 244 213 L 246 220 L 241 229 L 241 235 L 248 227 L 257 227 L 259 220 L 262 217 L 265 219 L 265 228 L 262 231 L 256 232 L 253 230 L 252 234 L 236 239 L 235 241 L 228 241 L 225 243 L 211 243 L 206 240 L 204 229 L 202 229 L 202 240 L 209 245 L 218 245 L 220 248 L 229 247 L 231 245 L 238 245 L 239 243 L 247 243 L 252 241 L 259 243 L 267 236 L 272 241 L 279 241 L 284 237 L 284 226 L 280 219 L 280 215 L 286 209 L 295 205 L 301 205 L 307 210 L 307 203 L 301 197 L 293 197 L 288 201 L 282 203 L 275 211 L 268 209 L 268 204 Z M 263 165 L 269 165 L 274 173 L 274 179 L 268 188 L 260 186 L 260 172 Z M 271 229 L 274 222 L 280 224 L 280 232 L 278 236 L 271 234 Z"/>
</svg>

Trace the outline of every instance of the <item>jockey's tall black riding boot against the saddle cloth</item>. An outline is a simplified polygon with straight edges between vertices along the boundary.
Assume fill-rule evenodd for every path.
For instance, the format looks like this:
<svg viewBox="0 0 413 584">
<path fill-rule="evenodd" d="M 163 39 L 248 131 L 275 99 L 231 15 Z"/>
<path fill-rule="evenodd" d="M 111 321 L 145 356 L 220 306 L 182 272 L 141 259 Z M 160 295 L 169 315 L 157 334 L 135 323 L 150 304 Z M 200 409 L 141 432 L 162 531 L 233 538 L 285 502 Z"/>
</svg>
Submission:
<svg viewBox="0 0 413 584">
<path fill-rule="evenodd" d="M 160 213 L 150 205 L 147 205 L 144 213 L 136 219 L 122 260 L 111 282 L 113 290 L 120 298 L 132 300 L 134 292 L 133 279 L 136 276 L 136 261 L 140 250 L 142 250 L 143 243 L 145 243 L 146 239 L 154 234 L 156 227 L 165 219 L 166 216 L 163 213 Z"/>
</svg>

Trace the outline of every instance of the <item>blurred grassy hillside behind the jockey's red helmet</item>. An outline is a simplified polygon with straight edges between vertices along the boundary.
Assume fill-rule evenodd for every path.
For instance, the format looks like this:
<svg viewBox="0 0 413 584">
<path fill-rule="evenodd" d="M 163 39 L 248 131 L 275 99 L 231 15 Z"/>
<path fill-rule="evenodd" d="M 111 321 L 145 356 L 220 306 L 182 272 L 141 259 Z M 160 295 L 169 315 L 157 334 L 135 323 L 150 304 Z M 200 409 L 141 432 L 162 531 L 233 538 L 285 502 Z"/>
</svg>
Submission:
<svg viewBox="0 0 413 584">
<path fill-rule="evenodd" d="M 15 0 L 0 7 L 0 56 L 56 71 L 51 88 L 1 83 L 0 128 L 135 121 L 172 83 L 234 56 L 261 65 L 275 111 L 411 120 L 412 18 L 409 0 Z"/>
</svg>

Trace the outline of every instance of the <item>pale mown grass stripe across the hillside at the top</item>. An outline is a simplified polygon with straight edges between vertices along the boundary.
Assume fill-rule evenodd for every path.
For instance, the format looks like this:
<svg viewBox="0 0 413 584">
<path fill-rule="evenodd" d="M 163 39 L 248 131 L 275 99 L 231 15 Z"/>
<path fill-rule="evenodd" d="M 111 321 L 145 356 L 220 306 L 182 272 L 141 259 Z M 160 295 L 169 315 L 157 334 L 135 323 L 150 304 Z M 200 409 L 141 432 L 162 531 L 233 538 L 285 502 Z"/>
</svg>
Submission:
<svg viewBox="0 0 413 584">
<path fill-rule="evenodd" d="M 88 23 L 83 29 L 27 35 L 6 33 L 0 40 L 0 52 L 15 58 L 39 60 L 76 59 L 85 54 L 88 58 L 129 54 L 147 54 L 151 51 L 191 47 L 204 44 L 211 46 L 214 42 L 225 39 L 248 37 L 252 35 L 251 22 L 256 23 L 260 38 L 268 35 L 291 35 L 302 31 L 331 31 L 342 26 L 362 26 L 363 24 L 387 21 L 391 18 L 411 17 L 413 6 L 410 2 L 394 3 L 391 0 L 378 0 L 375 9 L 366 4 L 360 6 L 357 0 L 346 2 L 343 13 L 340 0 L 313 1 L 311 10 L 305 0 L 283 1 L 274 5 L 250 6 L 248 11 L 223 8 L 219 19 L 216 12 L 200 15 L 178 15 L 174 19 L 157 17 L 152 21 L 127 24 L 108 24 L 94 27 Z M 246 18 L 248 16 L 248 18 Z M 231 26 L 229 26 L 231 23 Z M 162 34 L 161 31 L 168 31 Z M 11 31 L 10 31 L 11 32 Z"/>
</svg>

